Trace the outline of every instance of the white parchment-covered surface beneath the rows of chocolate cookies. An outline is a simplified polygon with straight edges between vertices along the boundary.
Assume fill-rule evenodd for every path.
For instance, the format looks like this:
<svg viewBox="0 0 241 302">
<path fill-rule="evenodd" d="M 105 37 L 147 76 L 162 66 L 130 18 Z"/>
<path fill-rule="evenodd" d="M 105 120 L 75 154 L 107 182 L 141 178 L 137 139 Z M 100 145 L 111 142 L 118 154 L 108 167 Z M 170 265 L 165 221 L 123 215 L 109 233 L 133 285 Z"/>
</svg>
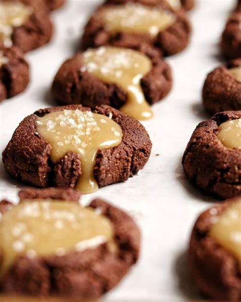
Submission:
<svg viewBox="0 0 241 302">
<path fill-rule="evenodd" d="M 206 74 L 221 63 L 218 42 L 231 0 L 197 0 L 190 13 L 193 35 L 183 53 L 168 60 L 174 77 L 172 92 L 153 106 L 155 118 L 144 122 L 153 141 L 152 156 L 139 175 L 82 197 L 99 196 L 132 215 L 142 231 L 141 257 L 106 300 L 176 300 L 199 298 L 187 272 L 186 248 L 197 215 L 215 200 L 186 180 L 180 164 L 196 125 L 208 118 L 201 106 Z M 27 54 L 32 81 L 28 89 L 0 105 L 1 152 L 18 123 L 40 108 L 54 106 L 50 84 L 59 66 L 77 50 L 81 28 L 98 0 L 69 0 L 52 14 L 55 35 L 50 44 Z M 17 201 L 21 184 L 0 164 L 0 197 Z"/>
</svg>

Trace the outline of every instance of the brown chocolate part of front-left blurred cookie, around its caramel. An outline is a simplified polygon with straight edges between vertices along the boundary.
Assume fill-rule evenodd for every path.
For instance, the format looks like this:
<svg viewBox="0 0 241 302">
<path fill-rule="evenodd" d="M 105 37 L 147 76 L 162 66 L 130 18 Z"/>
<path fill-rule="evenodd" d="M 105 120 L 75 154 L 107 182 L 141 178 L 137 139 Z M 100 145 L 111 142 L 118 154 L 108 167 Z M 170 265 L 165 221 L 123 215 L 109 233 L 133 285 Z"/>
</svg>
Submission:
<svg viewBox="0 0 241 302">
<path fill-rule="evenodd" d="M 58 199 L 62 199 L 63 194 L 63 200 L 66 200 L 67 192 L 59 189 L 55 192 Z M 71 190 L 68 193 L 70 198 L 76 194 Z M 52 192 L 48 196 L 45 190 L 41 196 L 40 190 L 35 193 L 32 189 L 20 192 L 20 195 L 45 199 L 51 198 Z M 3 207 L 3 213 L 8 211 L 5 204 L 0 203 L 0 212 Z M 18 256 L 2 276 L 0 291 L 16 295 L 72 296 L 82 300 L 99 298 L 117 285 L 138 260 L 140 232 L 129 215 L 103 200 L 95 199 L 87 208 L 96 209 L 112 224 L 113 242 L 117 247 L 115 252 L 110 250 L 108 243 L 101 243 L 59 256 Z M 0 254 L 1 257 L 3 259 L 4 255 Z"/>
</svg>

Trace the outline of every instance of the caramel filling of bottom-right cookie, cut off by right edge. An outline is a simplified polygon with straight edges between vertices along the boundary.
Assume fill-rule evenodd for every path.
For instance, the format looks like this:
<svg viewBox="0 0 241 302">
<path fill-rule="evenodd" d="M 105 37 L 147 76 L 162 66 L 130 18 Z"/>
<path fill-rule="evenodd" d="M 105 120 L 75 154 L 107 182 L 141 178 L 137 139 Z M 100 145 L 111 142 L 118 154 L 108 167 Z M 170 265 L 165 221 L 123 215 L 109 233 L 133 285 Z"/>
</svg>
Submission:
<svg viewBox="0 0 241 302">
<path fill-rule="evenodd" d="M 241 271 L 241 199 L 217 218 L 210 236 L 238 260 Z"/>
</svg>

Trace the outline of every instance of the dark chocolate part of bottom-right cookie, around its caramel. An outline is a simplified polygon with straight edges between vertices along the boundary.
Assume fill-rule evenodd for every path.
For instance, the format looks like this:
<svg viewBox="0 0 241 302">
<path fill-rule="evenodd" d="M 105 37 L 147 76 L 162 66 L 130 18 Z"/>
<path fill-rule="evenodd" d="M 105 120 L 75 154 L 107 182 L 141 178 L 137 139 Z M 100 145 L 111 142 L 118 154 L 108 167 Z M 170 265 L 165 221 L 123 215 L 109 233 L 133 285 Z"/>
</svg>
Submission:
<svg viewBox="0 0 241 302">
<path fill-rule="evenodd" d="M 240 197 L 226 200 L 202 213 L 195 223 L 190 247 L 190 270 L 199 289 L 209 298 L 240 301 L 241 279 L 237 260 L 209 235 L 213 222 Z"/>
</svg>

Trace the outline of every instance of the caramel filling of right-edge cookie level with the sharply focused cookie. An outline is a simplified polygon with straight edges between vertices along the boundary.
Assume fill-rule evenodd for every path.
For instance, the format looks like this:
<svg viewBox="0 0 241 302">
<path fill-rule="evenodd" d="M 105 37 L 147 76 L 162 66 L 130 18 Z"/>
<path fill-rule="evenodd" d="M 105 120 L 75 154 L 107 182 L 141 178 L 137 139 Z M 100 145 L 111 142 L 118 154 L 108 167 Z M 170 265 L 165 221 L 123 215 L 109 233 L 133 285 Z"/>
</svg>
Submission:
<svg viewBox="0 0 241 302">
<path fill-rule="evenodd" d="M 227 148 L 241 148 L 241 118 L 222 123 L 218 138 Z"/>
</svg>

